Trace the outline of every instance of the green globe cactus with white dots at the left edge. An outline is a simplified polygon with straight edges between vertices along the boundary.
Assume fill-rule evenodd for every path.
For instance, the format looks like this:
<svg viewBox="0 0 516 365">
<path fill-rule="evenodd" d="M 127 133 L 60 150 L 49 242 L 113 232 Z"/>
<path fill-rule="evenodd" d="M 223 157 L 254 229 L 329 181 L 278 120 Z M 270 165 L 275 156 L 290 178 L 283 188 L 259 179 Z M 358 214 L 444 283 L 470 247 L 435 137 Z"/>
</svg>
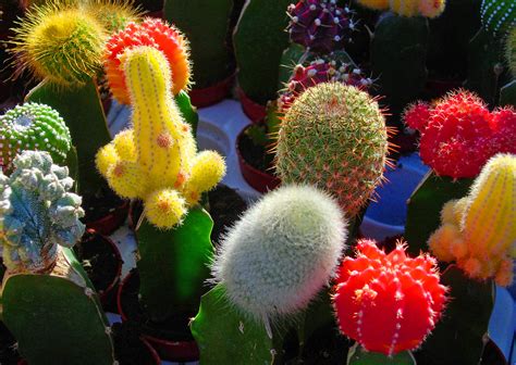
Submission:
<svg viewBox="0 0 516 365">
<path fill-rule="evenodd" d="M 24 150 L 49 152 L 53 162 L 62 163 L 72 147 L 70 130 L 52 108 L 25 103 L 0 116 L 0 164 L 9 169 L 12 160 Z"/>
</svg>

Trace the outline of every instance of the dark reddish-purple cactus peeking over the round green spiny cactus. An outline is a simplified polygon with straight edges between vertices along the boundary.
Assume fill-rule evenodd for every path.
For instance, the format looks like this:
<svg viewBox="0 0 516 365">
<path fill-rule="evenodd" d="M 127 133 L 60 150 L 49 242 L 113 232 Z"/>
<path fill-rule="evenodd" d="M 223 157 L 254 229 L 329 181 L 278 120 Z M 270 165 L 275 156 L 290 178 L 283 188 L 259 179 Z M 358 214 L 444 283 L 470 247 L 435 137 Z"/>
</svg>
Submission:
<svg viewBox="0 0 516 365">
<path fill-rule="evenodd" d="M 294 67 L 292 76 L 286 84 L 286 89 L 278 99 L 278 106 L 285 112 L 294 100 L 307 88 L 321 83 L 342 83 L 367 89 L 372 85 L 372 79 L 364 72 L 349 63 L 335 60 L 317 59 L 306 67 L 298 64 Z"/>
</svg>

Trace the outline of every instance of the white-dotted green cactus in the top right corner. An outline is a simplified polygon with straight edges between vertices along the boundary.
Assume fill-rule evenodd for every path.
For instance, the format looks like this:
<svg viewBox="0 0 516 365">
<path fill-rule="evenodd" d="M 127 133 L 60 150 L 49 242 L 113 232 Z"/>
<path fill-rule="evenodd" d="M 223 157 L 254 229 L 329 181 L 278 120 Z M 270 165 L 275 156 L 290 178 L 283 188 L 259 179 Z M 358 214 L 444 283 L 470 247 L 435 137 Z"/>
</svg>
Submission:
<svg viewBox="0 0 516 365">
<path fill-rule="evenodd" d="M 516 2 L 482 0 L 480 16 L 487 30 L 493 34 L 505 33 L 516 26 Z"/>
</svg>

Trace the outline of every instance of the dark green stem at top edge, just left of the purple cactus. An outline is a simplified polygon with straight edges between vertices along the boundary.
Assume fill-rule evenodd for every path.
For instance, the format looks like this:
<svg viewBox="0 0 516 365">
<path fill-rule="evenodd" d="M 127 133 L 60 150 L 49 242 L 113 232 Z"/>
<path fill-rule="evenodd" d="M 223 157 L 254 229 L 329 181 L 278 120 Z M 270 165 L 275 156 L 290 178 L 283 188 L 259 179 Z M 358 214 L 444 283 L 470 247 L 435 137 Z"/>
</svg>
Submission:
<svg viewBox="0 0 516 365">
<path fill-rule="evenodd" d="M 238 84 L 256 102 L 277 97 L 280 60 L 288 46 L 286 7 L 292 0 L 248 0 L 233 36 Z"/>
</svg>

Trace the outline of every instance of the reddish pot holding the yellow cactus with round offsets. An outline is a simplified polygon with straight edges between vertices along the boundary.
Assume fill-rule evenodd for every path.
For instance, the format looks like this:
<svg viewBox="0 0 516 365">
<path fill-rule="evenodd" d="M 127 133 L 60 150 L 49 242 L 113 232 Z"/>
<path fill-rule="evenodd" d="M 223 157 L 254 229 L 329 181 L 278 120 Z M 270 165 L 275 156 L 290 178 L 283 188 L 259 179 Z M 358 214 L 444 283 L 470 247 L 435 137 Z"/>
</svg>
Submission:
<svg viewBox="0 0 516 365">
<path fill-rule="evenodd" d="M 127 276 L 122 280 L 116 295 L 116 304 L 120 316 L 122 317 L 122 322 L 127 322 L 132 319 L 127 317 L 127 314 L 124 312 L 122 303 L 122 293 L 128 286 L 131 279 L 134 279 L 134 272 L 127 274 Z M 197 343 L 193 340 L 173 341 L 163 338 L 157 338 L 145 332 L 142 335 L 142 337 L 152 345 L 152 348 L 158 352 L 162 360 L 173 362 L 189 362 L 199 360 L 199 349 L 197 347 Z"/>
</svg>

